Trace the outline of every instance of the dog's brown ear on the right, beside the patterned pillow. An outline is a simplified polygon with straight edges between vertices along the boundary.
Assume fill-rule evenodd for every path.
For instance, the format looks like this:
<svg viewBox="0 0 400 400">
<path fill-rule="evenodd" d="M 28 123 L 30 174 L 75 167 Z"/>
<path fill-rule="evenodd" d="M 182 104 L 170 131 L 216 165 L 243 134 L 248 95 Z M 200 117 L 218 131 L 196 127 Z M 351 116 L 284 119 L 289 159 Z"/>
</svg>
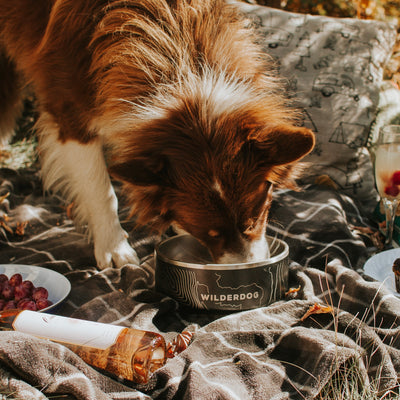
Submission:
<svg viewBox="0 0 400 400">
<path fill-rule="evenodd" d="M 307 128 L 279 125 L 263 134 L 249 136 L 261 150 L 265 162 L 270 165 L 284 165 L 307 155 L 314 147 L 314 133 Z"/>
</svg>

